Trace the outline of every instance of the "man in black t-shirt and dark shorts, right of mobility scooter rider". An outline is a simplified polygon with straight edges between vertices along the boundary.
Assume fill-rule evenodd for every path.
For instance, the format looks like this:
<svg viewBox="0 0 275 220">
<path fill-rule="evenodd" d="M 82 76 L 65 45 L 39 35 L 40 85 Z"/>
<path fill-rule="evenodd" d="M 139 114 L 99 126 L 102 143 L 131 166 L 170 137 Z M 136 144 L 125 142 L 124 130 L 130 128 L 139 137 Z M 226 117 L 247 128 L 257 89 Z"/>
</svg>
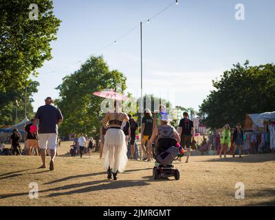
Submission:
<svg viewBox="0 0 275 220">
<path fill-rule="evenodd" d="M 188 163 L 188 159 L 190 157 L 190 146 L 192 142 L 192 138 L 194 140 L 195 129 L 192 120 L 188 118 L 188 113 L 184 112 L 184 118 L 182 118 L 179 122 L 179 136 L 181 137 L 181 146 L 186 146 L 187 148 L 187 157 L 186 163 Z"/>
</svg>

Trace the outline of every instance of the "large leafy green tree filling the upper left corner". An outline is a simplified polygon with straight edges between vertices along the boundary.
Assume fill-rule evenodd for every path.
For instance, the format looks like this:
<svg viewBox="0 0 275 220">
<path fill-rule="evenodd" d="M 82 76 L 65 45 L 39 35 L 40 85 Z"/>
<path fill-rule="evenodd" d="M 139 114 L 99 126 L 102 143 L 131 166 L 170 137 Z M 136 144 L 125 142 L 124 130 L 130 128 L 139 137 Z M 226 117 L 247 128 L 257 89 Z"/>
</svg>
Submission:
<svg viewBox="0 0 275 220">
<path fill-rule="evenodd" d="M 30 4 L 38 6 L 34 18 Z M 22 89 L 31 74 L 51 56 L 50 43 L 56 40 L 61 20 L 54 16 L 50 0 L 11 0 L 0 3 L 0 91 Z M 31 19 L 29 17 L 31 15 Z"/>
</svg>

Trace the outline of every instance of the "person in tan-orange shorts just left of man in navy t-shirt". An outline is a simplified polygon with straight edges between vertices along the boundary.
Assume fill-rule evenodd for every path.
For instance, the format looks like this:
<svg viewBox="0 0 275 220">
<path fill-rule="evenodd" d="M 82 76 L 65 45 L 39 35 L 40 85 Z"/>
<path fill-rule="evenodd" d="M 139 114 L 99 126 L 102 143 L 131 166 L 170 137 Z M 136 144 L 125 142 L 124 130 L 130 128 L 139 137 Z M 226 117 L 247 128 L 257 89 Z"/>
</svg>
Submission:
<svg viewBox="0 0 275 220">
<path fill-rule="evenodd" d="M 25 140 L 26 140 L 26 155 L 32 156 L 33 150 L 34 155 L 39 155 L 39 141 L 36 131 L 31 131 L 34 126 L 34 119 L 30 120 L 30 124 L 25 126 Z"/>
</svg>

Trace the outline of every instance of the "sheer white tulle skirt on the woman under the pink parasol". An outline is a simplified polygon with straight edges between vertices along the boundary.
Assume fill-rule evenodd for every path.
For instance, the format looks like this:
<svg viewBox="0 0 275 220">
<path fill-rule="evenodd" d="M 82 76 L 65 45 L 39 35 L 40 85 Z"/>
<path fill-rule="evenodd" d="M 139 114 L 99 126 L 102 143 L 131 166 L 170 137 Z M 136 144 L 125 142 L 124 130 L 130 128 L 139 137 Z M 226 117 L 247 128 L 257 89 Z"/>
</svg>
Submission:
<svg viewBox="0 0 275 220">
<path fill-rule="evenodd" d="M 104 169 L 109 166 L 112 172 L 124 172 L 127 164 L 127 146 L 121 129 L 108 129 L 104 140 Z"/>
</svg>

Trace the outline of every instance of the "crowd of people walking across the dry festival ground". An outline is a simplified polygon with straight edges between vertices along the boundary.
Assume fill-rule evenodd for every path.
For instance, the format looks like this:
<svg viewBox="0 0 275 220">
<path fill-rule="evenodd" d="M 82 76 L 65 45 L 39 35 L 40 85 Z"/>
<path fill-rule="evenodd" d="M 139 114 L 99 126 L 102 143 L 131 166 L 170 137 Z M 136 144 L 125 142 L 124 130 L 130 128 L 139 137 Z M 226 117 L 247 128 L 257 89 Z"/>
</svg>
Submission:
<svg viewBox="0 0 275 220">
<path fill-rule="evenodd" d="M 53 100 L 50 97 L 45 99 L 45 105 L 39 107 L 36 111 L 34 119 L 30 124 L 25 126 L 25 155 L 40 155 L 42 166 L 46 168 L 46 155 L 50 155 L 50 170 L 54 170 L 54 158 L 57 154 L 58 145 L 61 144 L 61 139 L 58 137 L 58 124 L 63 121 L 61 111 L 54 107 Z M 179 144 L 186 148 L 186 163 L 190 157 L 190 149 L 197 149 L 195 146 L 195 129 L 194 124 L 188 113 L 183 113 L 183 118 L 179 121 L 177 129 L 170 125 L 170 118 L 166 113 L 166 107 L 162 104 L 159 109 L 152 113 L 150 109 L 144 110 L 142 118 L 141 133 L 141 152 L 138 152 L 136 139 L 139 138 L 139 126 L 131 114 L 122 112 L 121 102 L 115 100 L 115 110 L 108 111 L 102 120 L 100 127 L 100 158 L 104 154 L 104 169 L 107 170 L 108 179 L 118 179 L 118 173 L 124 172 L 126 163 L 129 159 L 142 159 L 150 162 L 153 159 L 154 153 L 153 143 L 159 138 L 173 138 Z M 36 124 L 39 123 L 39 126 Z M 39 133 L 39 135 L 38 135 Z M 203 136 L 203 141 L 199 146 L 201 155 L 205 151 L 214 149 L 219 154 L 219 157 L 226 157 L 228 149 L 232 150 L 232 157 L 238 151 L 239 157 L 242 157 L 243 143 L 246 140 L 245 132 L 241 129 L 241 124 L 236 124 L 236 129 L 232 131 L 229 124 L 225 124 L 222 129 L 217 129 L 209 136 L 207 140 Z M 22 140 L 21 133 L 14 129 L 11 137 L 11 152 L 5 151 L 5 144 L 0 145 L 0 153 L 3 155 L 21 155 Z M 83 133 L 75 135 L 72 148 L 69 151 L 72 155 L 80 155 L 89 153 L 95 148 L 96 142 L 91 137 L 88 138 Z M 254 139 L 250 137 L 250 146 L 254 148 Z M 154 152 L 153 152 L 154 151 Z M 181 157 L 179 157 L 181 161 Z"/>
</svg>

